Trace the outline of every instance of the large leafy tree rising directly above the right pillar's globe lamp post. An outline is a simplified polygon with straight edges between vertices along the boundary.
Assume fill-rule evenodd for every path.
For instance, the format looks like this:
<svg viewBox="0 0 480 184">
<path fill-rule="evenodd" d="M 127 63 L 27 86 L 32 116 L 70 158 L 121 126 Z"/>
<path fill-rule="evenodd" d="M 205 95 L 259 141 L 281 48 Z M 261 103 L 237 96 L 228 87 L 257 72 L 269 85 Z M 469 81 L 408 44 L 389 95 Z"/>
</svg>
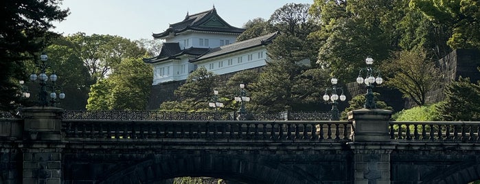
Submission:
<svg viewBox="0 0 480 184">
<path fill-rule="evenodd" d="M 398 49 L 395 24 L 402 14 L 402 0 L 324 1 L 316 0 L 310 12 L 321 18 L 321 30 L 312 34 L 321 47 L 318 63 L 338 78 L 356 78 L 363 60 L 378 62 Z"/>
</svg>

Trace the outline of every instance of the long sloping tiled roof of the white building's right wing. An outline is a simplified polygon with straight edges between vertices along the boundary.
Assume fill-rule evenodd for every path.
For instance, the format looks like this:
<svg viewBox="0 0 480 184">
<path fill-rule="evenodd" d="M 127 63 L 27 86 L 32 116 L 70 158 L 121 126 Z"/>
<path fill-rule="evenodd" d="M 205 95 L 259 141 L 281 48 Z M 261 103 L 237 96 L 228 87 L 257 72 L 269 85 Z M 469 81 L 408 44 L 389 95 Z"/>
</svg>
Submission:
<svg viewBox="0 0 480 184">
<path fill-rule="evenodd" d="M 225 54 L 230 54 L 232 52 L 241 51 L 244 49 L 249 49 L 249 48 L 258 47 L 262 45 L 268 45 L 277 35 L 278 35 L 278 32 L 274 32 L 271 34 L 266 34 L 264 36 L 251 38 L 246 41 L 240 41 L 240 42 L 232 43 L 229 45 L 223 45 L 221 47 L 209 49 L 208 52 L 206 52 L 202 56 L 198 56 L 197 58 L 190 60 L 190 62 L 197 62 L 199 60 L 205 60 L 207 58 L 222 56 Z"/>
</svg>

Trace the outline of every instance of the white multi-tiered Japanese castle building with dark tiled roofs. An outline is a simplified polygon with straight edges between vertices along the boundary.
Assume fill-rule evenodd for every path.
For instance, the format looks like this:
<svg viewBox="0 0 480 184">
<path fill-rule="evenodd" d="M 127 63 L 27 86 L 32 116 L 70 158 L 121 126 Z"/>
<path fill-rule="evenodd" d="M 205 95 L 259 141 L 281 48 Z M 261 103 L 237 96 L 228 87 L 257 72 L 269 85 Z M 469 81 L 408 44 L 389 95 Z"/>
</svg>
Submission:
<svg viewBox="0 0 480 184">
<path fill-rule="evenodd" d="M 144 58 L 154 68 L 152 85 L 187 79 L 198 67 L 218 75 L 266 65 L 266 48 L 277 32 L 236 42 L 244 29 L 233 27 L 212 10 L 192 14 L 165 32 L 159 56 Z"/>
</svg>

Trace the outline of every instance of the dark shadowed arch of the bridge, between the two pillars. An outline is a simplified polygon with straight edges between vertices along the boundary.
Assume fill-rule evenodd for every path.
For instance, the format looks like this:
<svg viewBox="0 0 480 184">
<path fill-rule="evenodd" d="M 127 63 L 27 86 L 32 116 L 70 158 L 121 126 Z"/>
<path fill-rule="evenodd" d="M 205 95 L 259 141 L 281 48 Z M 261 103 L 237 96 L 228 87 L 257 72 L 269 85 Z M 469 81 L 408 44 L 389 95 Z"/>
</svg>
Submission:
<svg viewBox="0 0 480 184">
<path fill-rule="evenodd" d="M 110 174 L 99 183 L 159 183 L 181 176 L 209 176 L 240 183 L 318 183 L 315 177 L 293 168 L 218 155 L 155 157 Z"/>
</svg>

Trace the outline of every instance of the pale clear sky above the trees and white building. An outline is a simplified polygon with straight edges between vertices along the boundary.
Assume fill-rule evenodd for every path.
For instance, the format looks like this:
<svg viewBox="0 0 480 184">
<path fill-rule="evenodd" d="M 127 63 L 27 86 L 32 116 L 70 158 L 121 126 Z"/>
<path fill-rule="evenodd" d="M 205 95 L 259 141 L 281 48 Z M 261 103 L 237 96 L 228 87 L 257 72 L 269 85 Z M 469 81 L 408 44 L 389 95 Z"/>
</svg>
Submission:
<svg viewBox="0 0 480 184">
<path fill-rule="evenodd" d="M 242 27 L 251 19 L 270 18 L 286 3 L 309 3 L 313 0 L 64 0 L 60 7 L 70 8 L 65 21 L 55 22 L 54 32 L 74 34 L 111 34 L 131 40 L 152 38 L 152 33 L 163 32 L 169 23 L 211 10 L 230 25 Z"/>
</svg>

